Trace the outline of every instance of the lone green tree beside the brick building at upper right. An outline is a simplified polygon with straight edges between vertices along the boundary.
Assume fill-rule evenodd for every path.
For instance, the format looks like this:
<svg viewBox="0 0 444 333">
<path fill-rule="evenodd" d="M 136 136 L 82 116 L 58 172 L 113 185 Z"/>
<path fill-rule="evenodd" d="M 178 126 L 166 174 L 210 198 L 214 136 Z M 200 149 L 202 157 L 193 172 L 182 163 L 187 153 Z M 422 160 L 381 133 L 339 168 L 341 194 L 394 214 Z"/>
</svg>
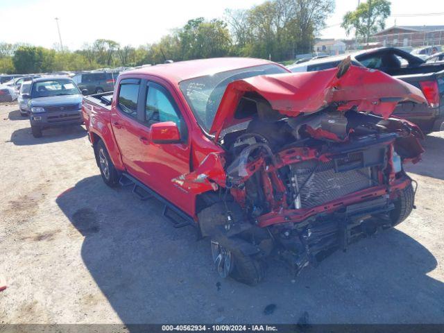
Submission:
<svg viewBox="0 0 444 333">
<path fill-rule="evenodd" d="M 370 35 L 384 29 L 387 17 L 390 16 L 391 2 L 388 0 L 368 0 L 362 2 L 356 10 L 346 12 L 341 27 L 350 35 L 353 29 L 356 37 L 362 37 L 368 43 Z"/>
</svg>

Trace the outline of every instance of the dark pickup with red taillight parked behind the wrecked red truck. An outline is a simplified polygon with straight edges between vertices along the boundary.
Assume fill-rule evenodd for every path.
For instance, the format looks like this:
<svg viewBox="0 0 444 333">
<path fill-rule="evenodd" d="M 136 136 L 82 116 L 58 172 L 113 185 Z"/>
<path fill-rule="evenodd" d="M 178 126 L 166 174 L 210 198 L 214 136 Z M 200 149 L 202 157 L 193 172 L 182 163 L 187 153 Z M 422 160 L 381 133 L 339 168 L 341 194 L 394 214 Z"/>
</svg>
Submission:
<svg viewBox="0 0 444 333">
<path fill-rule="evenodd" d="M 336 67 L 348 55 L 291 65 L 296 71 L 316 71 Z M 422 90 L 428 105 L 400 103 L 394 114 L 418 124 L 424 133 L 444 130 L 444 62 L 426 63 L 410 53 L 391 47 L 352 53 L 353 65 L 379 69 Z M 402 65 L 404 62 L 406 65 Z"/>
</svg>

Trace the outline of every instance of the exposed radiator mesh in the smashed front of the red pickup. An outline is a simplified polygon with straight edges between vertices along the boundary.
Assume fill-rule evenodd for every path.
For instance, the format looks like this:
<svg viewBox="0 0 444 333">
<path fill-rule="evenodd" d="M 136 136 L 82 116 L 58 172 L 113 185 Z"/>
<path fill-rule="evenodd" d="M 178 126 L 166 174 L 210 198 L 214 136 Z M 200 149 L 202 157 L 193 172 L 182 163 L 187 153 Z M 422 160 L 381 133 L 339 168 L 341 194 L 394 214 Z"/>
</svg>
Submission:
<svg viewBox="0 0 444 333">
<path fill-rule="evenodd" d="M 310 160 L 293 164 L 290 169 L 296 209 L 323 205 L 373 185 L 369 167 L 336 172 L 333 161 Z"/>
</svg>

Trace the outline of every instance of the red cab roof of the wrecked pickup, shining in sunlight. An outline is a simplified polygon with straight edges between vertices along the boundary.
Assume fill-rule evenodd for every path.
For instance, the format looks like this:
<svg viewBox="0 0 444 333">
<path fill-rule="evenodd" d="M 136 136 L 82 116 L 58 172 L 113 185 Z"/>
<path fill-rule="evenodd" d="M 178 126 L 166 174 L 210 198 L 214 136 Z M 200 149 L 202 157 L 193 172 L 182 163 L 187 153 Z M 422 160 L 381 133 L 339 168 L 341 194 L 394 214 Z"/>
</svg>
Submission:
<svg viewBox="0 0 444 333">
<path fill-rule="evenodd" d="M 275 64 L 275 62 L 255 58 L 210 58 L 133 69 L 131 71 L 125 71 L 121 73 L 121 75 L 148 74 L 165 78 L 173 83 L 180 83 L 180 81 L 189 78 L 198 78 L 223 71 L 232 71 L 234 69 L 267 64 Z"/>
</svg>

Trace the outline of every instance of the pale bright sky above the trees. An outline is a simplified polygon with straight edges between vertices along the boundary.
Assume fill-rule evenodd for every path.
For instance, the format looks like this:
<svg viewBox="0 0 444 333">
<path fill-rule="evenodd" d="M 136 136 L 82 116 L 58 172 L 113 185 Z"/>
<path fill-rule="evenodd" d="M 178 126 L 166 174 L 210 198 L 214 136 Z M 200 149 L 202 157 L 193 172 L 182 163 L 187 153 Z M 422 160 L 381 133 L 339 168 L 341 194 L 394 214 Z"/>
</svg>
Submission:
<svg viewBox="0 0 444 333">
<path fill-rule="evenodd" d="M 364 0 L 361 0 L 364 1 Z M 250 8 L 264 0 L 0 0 L 0 42 L 53 47 L 59 18 L 63 46 L 79 49 L 85 42 L 111 39 L 122 45 L 153 43 L 188 19 L 222 18 L 225 8 Z M 392 0 L 392 15 L 444 13 L 442 0 Z M 341 20 L 358 0 L 336 0 L 323 38 L 345 38 Z M 420 3 L 420 6 L 418 6 Z M 396 20 L 396 22 L 395 22 Z M 444 25 L 444 15 L 389 17 L 386 26 Z"/>
</svg>

